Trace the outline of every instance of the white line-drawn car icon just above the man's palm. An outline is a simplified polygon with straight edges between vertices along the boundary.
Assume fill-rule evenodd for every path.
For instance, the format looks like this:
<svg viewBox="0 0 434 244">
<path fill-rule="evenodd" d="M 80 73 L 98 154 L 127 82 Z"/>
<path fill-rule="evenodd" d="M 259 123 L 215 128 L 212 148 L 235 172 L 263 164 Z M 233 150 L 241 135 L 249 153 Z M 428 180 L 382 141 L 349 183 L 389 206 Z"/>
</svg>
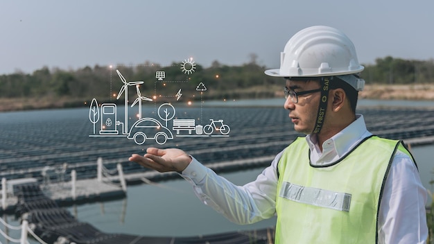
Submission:
<svg viewBox="0 0 434 244">
<path fill-rule="evenodd" d="M 173 139 L 173 134 L 156 119 L 143 118 L 131 126 L 127 138 L 133 139 L 139 145 L 145 143 L 148 139 L 155 140 L 159 145 L 163 145 L 168 139 Z"/>
</svg>

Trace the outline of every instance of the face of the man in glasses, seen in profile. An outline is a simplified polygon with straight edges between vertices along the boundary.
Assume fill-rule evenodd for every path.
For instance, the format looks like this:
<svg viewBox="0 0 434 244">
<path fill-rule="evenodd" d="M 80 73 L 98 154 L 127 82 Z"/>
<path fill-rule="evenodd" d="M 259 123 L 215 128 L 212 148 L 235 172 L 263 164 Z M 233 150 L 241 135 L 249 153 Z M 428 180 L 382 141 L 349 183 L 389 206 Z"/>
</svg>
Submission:
<svg viewBox="0 0 434 244">
<path fill-rule="evenodd" d="M 320 88 L 318 81 L 286 80 L 286 89 L 294 92 L 304 92 Z M 294 130 L 304 134 L 311 134 L 315 127 L 318 106 L 320 105 L 320 92 L 313 92 L 298 96 L 298 103 L 293 103 L 288 96 L 285 109 L 289 110 L 289 117 L 294 123 Z"/>
</svg>

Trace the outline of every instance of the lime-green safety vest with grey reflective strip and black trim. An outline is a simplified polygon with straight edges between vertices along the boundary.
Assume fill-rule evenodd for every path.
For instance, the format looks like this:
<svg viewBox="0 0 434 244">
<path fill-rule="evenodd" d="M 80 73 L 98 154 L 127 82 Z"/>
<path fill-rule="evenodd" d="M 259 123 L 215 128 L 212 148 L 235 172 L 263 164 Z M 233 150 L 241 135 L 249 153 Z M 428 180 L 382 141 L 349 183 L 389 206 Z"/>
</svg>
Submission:
<svg viewBox="0 0 434 244">
<path fill-rule="evenodd" d="M 368 137 L 329 166 L 314 166 L 297 138 L 277 166 L 275 243 L 376 243 L 381 194 L 402 141 Z"/>
</svg>

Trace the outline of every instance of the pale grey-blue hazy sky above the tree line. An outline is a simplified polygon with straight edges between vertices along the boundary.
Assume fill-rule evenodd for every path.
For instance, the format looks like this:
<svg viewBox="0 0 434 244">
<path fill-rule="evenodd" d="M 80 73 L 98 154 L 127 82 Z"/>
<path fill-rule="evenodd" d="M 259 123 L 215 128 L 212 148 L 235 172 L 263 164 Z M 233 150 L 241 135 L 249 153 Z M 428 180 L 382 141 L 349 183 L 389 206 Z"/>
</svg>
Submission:
<svg viewBox="0 0 434 244">
<path fill-rule="evenodd" d="M 250 61 L 279 68 L 297 31 L 333 26 L 359 62 L 434 58 L 434 1 L 0 1 L 0 74 L 42 67 Z"/>
</svg>

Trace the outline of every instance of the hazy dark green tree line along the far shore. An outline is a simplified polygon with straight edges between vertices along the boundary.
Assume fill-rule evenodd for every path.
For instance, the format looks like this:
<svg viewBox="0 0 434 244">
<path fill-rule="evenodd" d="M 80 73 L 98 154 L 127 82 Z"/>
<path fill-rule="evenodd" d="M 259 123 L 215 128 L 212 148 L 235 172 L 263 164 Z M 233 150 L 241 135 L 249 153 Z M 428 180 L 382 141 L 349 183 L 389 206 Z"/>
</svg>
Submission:
<svg viewBox="0 0 434 244">
<path fill-rule="evenodd" d="M 0 76 L 0 98 L 77 98 L 112 100 L 122 85 L 116 73 L 118 69 L 127 81 L 143 80 L 141 91 L 153 94 L 170 81 L 180 82 L 186 96 L 195 97 L 196 86 L 202 82 L 209 89 L 205 98 L 264 98 L 275 96 L 268 87 L 282 86 L 281 78 L 266 76 L 267 69 L 257 64 L 256 59 L 239 66 L 228 66 L 214 61 L 210 67 L 195 64 L 192 73 L 182 72 L 181 62 L 162 67 L 144 62 L 138 65 L 105 67 L 95 65 L 76 70 L 49 69 L 42 67 L 33 73 L 15 72 Z M 403 60 L 401 58 L 377 58 L 375 64 L 365 64 L 362 73 L 367 84 L 426 84 L 434 83 L 434 60 Z M 157 71 L 164 71 L 163 81 L 157 81 Z M 134 92 L 134 87 L 130 87 Z M 175 91 L 176 92 L 176 91 Z M 198 96 L 196 96 L 198 98 Z M 203 98 L 203 97 L 202 97 Z"/>
</svg>

